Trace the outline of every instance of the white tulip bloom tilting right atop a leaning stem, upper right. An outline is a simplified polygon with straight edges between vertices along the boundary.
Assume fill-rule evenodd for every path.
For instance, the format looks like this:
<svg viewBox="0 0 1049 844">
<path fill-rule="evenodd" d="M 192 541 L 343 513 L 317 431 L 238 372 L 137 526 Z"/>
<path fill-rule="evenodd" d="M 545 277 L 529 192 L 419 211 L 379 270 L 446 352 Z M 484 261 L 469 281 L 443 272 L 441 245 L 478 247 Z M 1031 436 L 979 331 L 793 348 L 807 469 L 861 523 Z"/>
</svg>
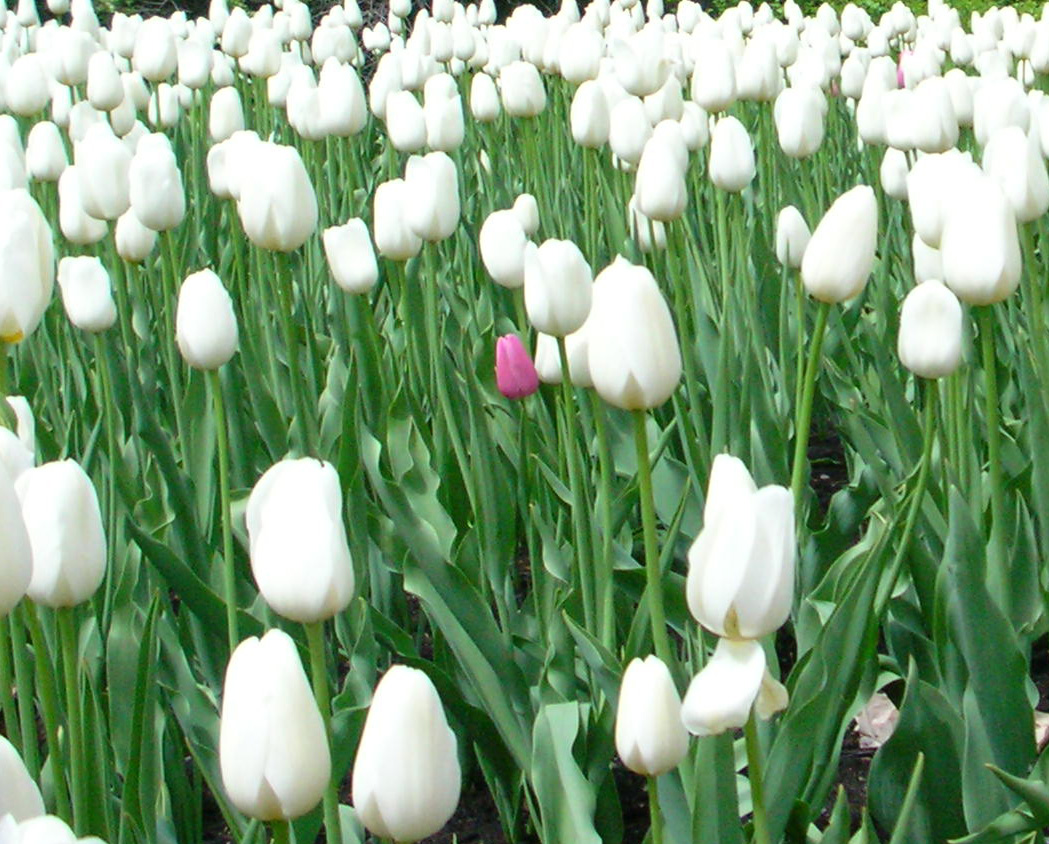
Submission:
<svg viewBox="0 0 1049 844">
<path fill-rule="evenodd" d="M 858 185 L 834 200 L 812 233 L 801 261 L 809 295 L 831 303 L 857 296 L 874 268 L 877 240 L 878 202 L 870 187 Z"/>
</svg>

